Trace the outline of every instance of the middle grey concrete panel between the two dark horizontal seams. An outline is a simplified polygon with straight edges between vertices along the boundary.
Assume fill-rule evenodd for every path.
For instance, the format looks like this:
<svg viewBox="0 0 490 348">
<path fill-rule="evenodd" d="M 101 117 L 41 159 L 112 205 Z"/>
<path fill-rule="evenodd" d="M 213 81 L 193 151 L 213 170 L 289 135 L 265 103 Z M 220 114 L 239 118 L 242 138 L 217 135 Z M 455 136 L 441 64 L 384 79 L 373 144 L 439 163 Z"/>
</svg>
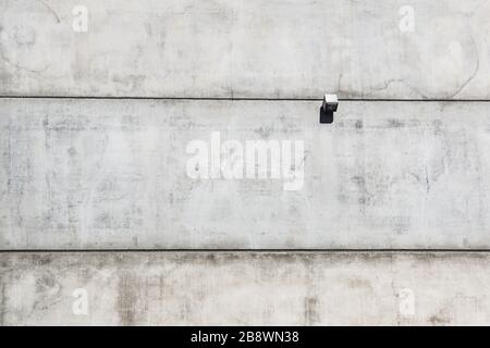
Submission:
<svg viewBox="0 0 490 348">
<path fill-rule="evenodd" d="M 0 100 L 0 248 L 490 248 L 489 102 Z M 193 139 L 303 140 L 304 185 L 193 179 Z"/>
</svg>

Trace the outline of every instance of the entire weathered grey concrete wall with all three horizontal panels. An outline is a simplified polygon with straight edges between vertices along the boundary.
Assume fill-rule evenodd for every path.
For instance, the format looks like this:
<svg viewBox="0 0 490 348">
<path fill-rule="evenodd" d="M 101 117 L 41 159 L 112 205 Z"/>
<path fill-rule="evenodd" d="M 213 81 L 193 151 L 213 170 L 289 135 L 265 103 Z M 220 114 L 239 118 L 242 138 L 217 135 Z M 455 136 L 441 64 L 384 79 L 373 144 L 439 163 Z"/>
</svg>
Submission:
<svg viewBox="0 0 490 348">
<path fill-rule="evenodd" d="M 490 324 L 489 17 L 0 0 L 0 324 Z M 213 132 L 303 141 L 303 186 L 193 179 L 186 147 Z M 421 251 L 285 250 L 335 248 Z"/>
</svg>

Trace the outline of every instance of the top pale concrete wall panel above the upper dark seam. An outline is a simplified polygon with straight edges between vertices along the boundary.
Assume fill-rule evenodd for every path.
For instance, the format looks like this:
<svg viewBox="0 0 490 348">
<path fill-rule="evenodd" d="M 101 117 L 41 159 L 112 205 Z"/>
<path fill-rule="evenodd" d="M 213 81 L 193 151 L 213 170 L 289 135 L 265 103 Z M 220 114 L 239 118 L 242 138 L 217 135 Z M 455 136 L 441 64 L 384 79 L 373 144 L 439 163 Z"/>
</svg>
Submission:
<svg viewBox="0 0 490 348">
<path fill-rule="evenodd" d="M 489 16 L 486 0 L 0 0 L 0 94 L 489 99 Z"/>
</svg>

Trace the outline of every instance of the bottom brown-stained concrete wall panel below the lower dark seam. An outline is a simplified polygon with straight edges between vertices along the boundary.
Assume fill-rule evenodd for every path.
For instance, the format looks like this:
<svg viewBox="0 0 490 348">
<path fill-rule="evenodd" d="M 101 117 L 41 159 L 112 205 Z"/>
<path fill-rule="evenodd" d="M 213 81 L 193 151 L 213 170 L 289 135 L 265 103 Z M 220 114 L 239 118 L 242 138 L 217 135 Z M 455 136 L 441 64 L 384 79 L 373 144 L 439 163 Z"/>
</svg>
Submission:
<svg viewBox="0 0 490 348">
<path fill-rule="evenodd" d="M 488 253 L 1 253 L 3 325 L 490 324 Z M 73 293 L 86 290 L 87 315 Z M 81 294 L 77 290 L 76 294 Z M 81 313 L 79 311 L 77 313 Z"/>
</svg>

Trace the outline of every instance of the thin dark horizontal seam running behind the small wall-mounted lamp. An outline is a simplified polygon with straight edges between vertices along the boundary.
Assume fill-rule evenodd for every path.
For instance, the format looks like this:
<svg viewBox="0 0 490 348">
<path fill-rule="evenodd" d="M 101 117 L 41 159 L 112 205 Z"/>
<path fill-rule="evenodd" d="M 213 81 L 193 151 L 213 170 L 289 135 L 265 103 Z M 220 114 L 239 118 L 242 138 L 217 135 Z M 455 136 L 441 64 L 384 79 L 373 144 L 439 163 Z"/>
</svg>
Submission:
<svg viewBox="0 0 490 348">
<path fill-rule="evenodd" d="M 321 98 L 228 98 L 228 97 L 98 97 L 98 96 L 0 96 L 0 99 L 100 99 L 100 100 L 217 100 L 217 101 L 322 101 Z M 490 102 L 490 99 L 399 99 L 399 98 L 339 98 L 339 101 L 394 102 Z"/>
</svg>

